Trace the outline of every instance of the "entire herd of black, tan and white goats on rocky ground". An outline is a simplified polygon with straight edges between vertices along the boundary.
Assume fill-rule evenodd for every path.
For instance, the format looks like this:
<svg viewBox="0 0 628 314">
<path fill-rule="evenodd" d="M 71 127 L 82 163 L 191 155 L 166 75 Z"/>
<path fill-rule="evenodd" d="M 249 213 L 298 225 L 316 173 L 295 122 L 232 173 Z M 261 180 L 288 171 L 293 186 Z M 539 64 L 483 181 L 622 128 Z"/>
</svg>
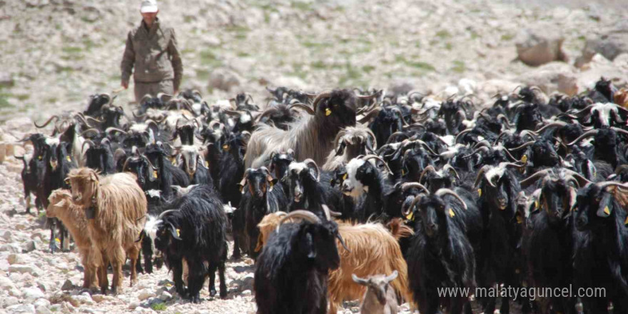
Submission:
<svg viewBox="0 0 628 314">
<path fill-rule="evenodd" d="M 482 110 L 472 96 L 268 91 L 263 110 L 246 94 L 146 96 L 133 117 L 93 95 L 36 125 L 54 132 L 22 140 L 27 211 L 33 193 L 51 250 L 72 236 L 83 288 L 106 293 L 111 266 L 119 292 L 128 258 L 131 285 L 165 263 L 198 303 L 218 270 L 225 298 L 230 236 L 233 258 L 255 258 L 262 314 L 335 314 L 355 299 L 362 313 L 404 300 L 493 313 L 496 297 L 472 289 L 569 286 L 605 295 L 517 306 L 628 313 L 628 91 L 604 78 L 577 96 L 523 87 Z"/>
</svg>

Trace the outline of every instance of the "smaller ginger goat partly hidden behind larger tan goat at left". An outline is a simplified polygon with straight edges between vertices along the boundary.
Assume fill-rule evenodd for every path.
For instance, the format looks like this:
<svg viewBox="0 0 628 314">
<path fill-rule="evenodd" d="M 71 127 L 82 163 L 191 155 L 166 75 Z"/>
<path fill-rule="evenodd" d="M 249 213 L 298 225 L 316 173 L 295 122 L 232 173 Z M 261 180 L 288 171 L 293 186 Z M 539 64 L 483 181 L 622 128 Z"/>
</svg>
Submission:
<svg viewBox="0 0 628 314">
<path fill-rule="evenodd" d="M 96 278 L 97 265 L 91 258 L 93 246 L 87 231 L 87 218 L 81 206 L 72 203 L 72 195 L 69 190 L 58 189 L 52 191 L 48 198 L 49 205 L 46 208 L 46 216 L 49 218 L 59 218 L 68 228 L 74 238 L 78 253 L 81 255 L 83 265 L 83 288 L 98 288 Z"/>
</svg>

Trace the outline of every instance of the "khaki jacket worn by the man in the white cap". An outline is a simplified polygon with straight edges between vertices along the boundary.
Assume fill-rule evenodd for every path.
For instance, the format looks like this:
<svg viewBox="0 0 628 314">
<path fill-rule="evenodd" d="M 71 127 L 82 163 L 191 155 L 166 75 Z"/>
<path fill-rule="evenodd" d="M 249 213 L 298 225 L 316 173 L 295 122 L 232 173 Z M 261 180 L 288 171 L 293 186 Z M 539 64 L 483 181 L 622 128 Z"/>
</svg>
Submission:
<svg viewBox="0 0 628 314">
<path fill-rule="evenodd" d="M 133 80 L 141 83 L 156 83 L 173 79 L 173 87 L 178 90 L 183 75 L 183 64 L 174 34 L 174 29 L 156 19 L 150 30 L 144 21 L 128 32 L 126 48 L 122 56 L 122 81 L 128 83 L 133 72 Z"/>
</svg>

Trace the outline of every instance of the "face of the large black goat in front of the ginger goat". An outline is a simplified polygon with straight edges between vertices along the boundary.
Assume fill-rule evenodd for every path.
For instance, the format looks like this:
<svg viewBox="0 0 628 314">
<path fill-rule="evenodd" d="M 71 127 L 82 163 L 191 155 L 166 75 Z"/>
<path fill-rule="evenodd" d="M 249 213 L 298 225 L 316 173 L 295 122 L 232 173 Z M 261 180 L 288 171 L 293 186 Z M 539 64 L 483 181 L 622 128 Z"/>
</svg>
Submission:
<svg viewBox="0 0 628 314">
<path fill-rule="evenodd" d="M 338 225 L 333 221 L 320 224 L 306 223 L 300 230 L 299 247 L 305 250 L 308 260 L 315 261 L 321 270 L 334 270 L 340 266 L 340 255 L 335 239 Z"/>
</svg>

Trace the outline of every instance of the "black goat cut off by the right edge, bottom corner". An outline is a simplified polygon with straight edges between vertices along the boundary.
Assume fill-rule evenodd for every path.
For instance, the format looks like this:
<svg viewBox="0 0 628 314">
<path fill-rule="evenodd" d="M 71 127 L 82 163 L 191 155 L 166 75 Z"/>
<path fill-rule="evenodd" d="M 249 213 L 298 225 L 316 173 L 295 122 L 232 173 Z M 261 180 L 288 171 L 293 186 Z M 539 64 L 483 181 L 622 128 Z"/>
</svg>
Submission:
<svg viewBox="0 0 628 314">
<path fill-rule="evenodd" d="M 628 311 L 628 216 L 624 186 L 617 182 L 594 183 L 577 194 L 576 228 L 584 233 L 574 258 L 577 287 L 604 288 L 606 295 L 583 298 L 587 313 Z"/>
</svg>

